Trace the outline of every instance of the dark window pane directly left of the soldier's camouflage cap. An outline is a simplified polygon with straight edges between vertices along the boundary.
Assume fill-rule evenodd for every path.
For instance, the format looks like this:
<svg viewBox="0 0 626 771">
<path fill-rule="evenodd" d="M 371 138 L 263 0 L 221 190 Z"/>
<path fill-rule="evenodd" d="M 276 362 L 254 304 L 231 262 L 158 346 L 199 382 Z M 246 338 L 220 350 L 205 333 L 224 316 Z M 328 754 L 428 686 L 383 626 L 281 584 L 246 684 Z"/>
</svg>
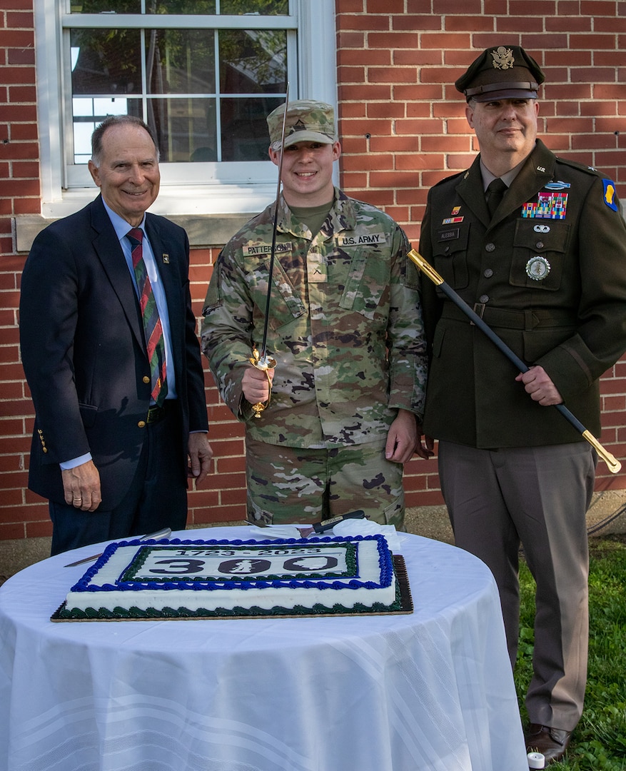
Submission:
<svg viewBox="0 0 626 771">
<path fill-rule="evenodd" d="M 222 99 L 222 160 L 269 160 L 265 120 L 284 99 Z"/>
</svg>

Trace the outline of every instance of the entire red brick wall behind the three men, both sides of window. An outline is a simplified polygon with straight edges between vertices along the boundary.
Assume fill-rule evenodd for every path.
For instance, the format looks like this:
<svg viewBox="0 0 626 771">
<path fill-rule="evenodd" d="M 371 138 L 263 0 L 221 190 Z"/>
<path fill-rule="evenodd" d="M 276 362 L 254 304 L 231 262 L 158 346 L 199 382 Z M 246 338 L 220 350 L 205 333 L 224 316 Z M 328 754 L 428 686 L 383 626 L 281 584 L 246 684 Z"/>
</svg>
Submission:
<svg viewBox="0 0 626 771">
<path fill-rule="evenodd" d="M 12 217 L 39 214 L 33 0 L 0 9 L 0 539 L 49 534 L 26 490 L 32 403 L 19 362 L 19 278 Z M 336 0 L 342 186 L 419 239 L 426 191 L 476 151 L 453 81 L 488 45 L 523 45 L 546 72 L 540 133 L 553 150 L 607 170 L 626 198 L 626 0 Z M 217 245 L 216 245 L 217 246 Z M 216 249 L 194 251 L 200 316 Z M 45 309 L 42 311 L 45 323 Z M 215 469 L 190 494 L 190 521 L 244 517 L 243 432 L 207 374 Z M 601 383 L 602 442 L 626 457 L 626 362 Z M 626 487 L 600 466 L 597 489 Z M 406 469 L 410 506 L 441 503 L 436 462 Z"/>
</svg>

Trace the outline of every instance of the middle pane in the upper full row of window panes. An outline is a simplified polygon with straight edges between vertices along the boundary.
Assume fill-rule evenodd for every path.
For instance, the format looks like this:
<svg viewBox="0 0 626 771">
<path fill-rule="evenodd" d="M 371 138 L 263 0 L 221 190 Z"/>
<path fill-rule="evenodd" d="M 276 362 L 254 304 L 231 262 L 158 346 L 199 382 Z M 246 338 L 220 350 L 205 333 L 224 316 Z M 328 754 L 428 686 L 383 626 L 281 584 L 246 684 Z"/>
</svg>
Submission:
<svg viewBox="0 0 626 771">
<path fill-rule="evenodd" d="M 212 29 L 146 30 L 148 93 L 214 94 Z"/>
</svg>

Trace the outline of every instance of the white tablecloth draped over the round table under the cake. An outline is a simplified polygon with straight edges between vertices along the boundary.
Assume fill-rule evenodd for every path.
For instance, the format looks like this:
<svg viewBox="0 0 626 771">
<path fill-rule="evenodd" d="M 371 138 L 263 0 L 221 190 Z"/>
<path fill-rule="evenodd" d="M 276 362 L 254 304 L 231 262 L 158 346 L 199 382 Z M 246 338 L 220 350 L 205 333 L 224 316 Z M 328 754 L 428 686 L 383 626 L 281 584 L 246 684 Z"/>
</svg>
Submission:
<svg viewBox="0 0 626 771">
<path fill-rule="evenodd" d="M 249 527 L 179 537 L 250 537 Z M 4 771 L 527 771 L 490 571 L 400 534 L 408 615 L 49 620 L 101 549 L 0 588 Z"/>
</svg>

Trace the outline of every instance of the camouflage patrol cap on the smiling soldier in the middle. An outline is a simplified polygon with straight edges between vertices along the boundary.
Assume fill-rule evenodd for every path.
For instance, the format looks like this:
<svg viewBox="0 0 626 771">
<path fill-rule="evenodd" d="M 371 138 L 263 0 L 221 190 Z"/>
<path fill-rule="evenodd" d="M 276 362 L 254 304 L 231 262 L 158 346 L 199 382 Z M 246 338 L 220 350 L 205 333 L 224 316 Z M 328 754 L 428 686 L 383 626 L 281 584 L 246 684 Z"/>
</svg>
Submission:
<svg viewBox="0 0 626 771">
<path fill-rule="evenodd" d="M 281 149 L 284 104 L 268 115 L 270 146 Z M 288 103 L 287 119 L 284 126 L 284 146 L 296 142 L 321 142 L 332 144 L 337 141 L 335 113 L 332 106 L 314 99 L 298 99 Z"/>
</svg>

